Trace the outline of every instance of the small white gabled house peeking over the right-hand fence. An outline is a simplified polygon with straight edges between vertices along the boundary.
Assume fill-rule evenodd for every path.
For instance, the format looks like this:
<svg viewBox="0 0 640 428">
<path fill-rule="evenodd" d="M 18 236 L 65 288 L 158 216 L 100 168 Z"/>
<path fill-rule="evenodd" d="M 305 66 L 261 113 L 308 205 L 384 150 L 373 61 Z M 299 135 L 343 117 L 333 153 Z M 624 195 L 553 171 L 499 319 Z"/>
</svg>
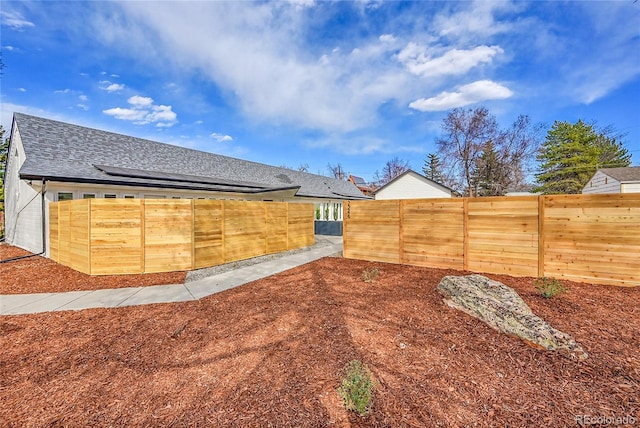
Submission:
<svg viewBox="0 0 640 428">
<path fill-rule="evenodd" d="M 447 186 L 408 170 L 376 190 L 375 199 L 450 198 L 452 193 Z"/>
</svg>

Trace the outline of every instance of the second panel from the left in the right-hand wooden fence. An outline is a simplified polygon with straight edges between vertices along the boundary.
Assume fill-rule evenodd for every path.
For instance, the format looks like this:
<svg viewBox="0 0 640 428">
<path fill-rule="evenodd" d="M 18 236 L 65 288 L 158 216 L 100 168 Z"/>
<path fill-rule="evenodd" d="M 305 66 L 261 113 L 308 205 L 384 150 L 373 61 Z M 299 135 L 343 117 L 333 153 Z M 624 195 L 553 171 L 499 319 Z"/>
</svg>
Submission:
<svg viewBox="0 0 640 428">
<path fill-rule="evenodd" d="M 464 268 L 462 199 L 401 202 L 401 262 L 415 266 Z"/>
</svg>

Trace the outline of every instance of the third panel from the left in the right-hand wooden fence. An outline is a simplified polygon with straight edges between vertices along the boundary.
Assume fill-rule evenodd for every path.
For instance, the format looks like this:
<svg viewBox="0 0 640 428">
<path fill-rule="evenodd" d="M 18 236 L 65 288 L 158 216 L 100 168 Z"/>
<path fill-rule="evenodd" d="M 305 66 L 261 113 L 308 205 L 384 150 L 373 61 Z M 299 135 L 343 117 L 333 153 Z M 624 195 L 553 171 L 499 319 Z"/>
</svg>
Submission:
<svg viewBox="0 0 640 428">
<path fill-rule="evenodd" d="M 467 269 L 538 276 L 538 197 L 468 201 Z"/>
</svg>

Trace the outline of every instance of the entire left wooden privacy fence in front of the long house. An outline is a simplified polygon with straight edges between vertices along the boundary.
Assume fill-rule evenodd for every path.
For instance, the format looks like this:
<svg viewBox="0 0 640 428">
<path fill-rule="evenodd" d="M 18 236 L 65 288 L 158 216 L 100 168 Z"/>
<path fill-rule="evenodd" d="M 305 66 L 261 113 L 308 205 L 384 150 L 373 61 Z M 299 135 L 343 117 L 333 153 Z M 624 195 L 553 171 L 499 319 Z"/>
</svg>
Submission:
<svg viewBox="0 0 640 428">
<path fill-rule="evenodd" d="M 200 269 L 312 245 L 313 204 L 84 199 L 49 205 L 50 257 L 90 275 Z"/>
</svg>

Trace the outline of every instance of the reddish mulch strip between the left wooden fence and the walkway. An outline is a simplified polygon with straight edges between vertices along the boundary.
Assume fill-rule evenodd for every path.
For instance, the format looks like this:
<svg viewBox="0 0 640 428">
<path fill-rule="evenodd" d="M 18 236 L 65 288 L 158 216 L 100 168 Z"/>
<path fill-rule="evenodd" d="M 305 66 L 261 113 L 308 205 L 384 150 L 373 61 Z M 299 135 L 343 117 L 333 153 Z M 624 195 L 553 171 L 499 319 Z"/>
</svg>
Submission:
<svg viewBox="0 0 640 428">
<path fill-rule="evenodd" d="M 0 244 L 0 260 L 30 255 L 22 248 Z M 63 291 L 101 290 L 104 288 L 143 287 L 182 284 L 186 272 L 143 275 L 91 276 L 35 256 L 0 263 L 0 294 L 57 293 Z"/>
</svg>

